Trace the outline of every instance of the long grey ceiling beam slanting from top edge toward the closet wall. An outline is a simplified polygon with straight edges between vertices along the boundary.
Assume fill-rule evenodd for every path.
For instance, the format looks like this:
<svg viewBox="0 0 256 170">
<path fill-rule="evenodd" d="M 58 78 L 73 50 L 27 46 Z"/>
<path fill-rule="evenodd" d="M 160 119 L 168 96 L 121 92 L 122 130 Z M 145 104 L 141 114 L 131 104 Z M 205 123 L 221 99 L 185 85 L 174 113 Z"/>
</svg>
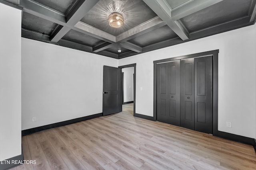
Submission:
<svg viewBox="0 0 256 170">
<path fill-rule="evenodd" d="M 172 20 L 172 8 L 166 0 L 143 0 L 182 39 L 188 39 L 188 31 L 179 20 Z"/>
</svg>

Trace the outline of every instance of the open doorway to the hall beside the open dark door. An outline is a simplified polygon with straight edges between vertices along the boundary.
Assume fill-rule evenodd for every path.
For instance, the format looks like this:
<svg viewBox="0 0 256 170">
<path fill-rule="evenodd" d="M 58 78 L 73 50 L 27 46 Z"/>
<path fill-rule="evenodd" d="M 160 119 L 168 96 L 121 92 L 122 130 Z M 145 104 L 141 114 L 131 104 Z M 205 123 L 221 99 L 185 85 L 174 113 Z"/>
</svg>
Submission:
<svg viewBox="0 0 256 170">
<path fill-rule="evenodd" d="M 136 102 L 136 64 L 119 66 L 122 69 L 122 107 L 133 110 Z"/>
</svg>

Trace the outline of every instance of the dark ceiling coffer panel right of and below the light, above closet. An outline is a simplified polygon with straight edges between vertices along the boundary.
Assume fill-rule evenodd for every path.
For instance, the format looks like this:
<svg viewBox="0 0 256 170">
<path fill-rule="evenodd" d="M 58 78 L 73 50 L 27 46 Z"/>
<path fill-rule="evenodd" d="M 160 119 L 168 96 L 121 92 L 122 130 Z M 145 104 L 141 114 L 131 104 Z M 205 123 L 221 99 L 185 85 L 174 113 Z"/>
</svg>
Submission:
<svg viewBox="0 0 256 170">
<path fill-rule="evenodd" d="M 135 37 L 134 39 L 130 39 L 129 42 L 136 44 L 140 47 L 145 47 L 175 37 L 178 37 L 176 33 L 174 33 L 172 29 L 170 29 L 170 27 L 164 25 L 163 27 Z"/>
</svg>

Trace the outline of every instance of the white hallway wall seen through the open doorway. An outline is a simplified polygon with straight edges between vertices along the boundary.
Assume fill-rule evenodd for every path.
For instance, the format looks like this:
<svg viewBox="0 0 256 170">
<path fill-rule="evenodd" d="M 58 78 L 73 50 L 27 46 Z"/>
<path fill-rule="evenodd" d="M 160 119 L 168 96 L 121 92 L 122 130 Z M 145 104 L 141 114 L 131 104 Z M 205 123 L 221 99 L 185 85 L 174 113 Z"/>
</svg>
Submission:
<svg viewBox="0 0 256 170">
<path fill-rule="evenodd" d="M 124 72 L 124 102 L 133 101 L 133 73 L 134 67 L 122 68 Z"/>
</svg>

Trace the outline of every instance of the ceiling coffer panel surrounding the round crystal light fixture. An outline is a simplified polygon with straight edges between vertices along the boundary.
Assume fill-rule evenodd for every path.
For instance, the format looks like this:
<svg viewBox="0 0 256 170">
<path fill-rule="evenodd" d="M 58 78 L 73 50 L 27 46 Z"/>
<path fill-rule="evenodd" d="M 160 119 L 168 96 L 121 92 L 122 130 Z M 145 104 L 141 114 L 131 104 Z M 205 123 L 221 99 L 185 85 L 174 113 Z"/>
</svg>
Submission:
<svg viewBox="0 0 256 170">
<path fill-rule="evenodd" d="M 113 29 L 108 25 L 108 16 L 113 12 L 124 17 L 122 27 Z M 100 0 L 80 21 L 117 36 L 155 16 L 142 0 Z"/>
</svg>

